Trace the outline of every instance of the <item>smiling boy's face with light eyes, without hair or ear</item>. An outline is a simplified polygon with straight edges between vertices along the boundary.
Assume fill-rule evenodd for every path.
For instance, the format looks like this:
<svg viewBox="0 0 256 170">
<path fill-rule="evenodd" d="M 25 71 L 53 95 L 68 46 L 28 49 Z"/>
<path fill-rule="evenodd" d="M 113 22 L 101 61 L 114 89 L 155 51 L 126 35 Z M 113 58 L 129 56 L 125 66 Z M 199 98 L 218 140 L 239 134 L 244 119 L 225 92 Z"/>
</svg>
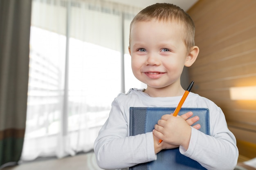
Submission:
<svg viewBox="0 0 256 170">
<path fill-rule="evenodd" d="M 177 22 L 135 22 L 130 32 L 132 72 L 148 88 L 180 86 L 186 65 L 184 29 Z"/>
</svg>

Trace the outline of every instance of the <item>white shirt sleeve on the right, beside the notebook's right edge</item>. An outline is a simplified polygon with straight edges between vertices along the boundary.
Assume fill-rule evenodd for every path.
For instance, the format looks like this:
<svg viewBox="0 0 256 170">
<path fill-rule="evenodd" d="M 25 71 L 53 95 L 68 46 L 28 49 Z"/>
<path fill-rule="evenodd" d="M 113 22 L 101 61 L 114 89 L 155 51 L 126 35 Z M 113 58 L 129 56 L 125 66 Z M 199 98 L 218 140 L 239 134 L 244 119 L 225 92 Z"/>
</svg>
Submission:
<svg viewBox="0 0 256 170">
<path fill-rule="evenodd" d="M 238 159 L 236 138 L 227 128 L 220 109 L 219 112 L 210 117 L 211 135 L 191 128 L 189 148 L 185 150 L 180 146 L 180 152 L 198 161 L 207 170 L 234 170 Z"/>
</svg>

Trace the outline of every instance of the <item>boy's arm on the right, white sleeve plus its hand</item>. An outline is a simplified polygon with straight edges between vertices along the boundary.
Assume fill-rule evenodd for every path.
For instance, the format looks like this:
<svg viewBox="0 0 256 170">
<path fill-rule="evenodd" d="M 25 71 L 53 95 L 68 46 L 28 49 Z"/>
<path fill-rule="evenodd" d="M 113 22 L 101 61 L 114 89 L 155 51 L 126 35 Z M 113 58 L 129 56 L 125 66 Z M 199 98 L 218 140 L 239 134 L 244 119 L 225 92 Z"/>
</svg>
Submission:
<svg viewBox="0 0 256 170">
<path fill-rule="evenodd" d="M 198 161 L 208 170 L 233 170 L 238 159 L 236 139 L 227 128 L 227 123 L 222 110 L 218 107 L 211 108 L 210 135 L 191 128 L 189 146 L 184 145 L 188 139 L 186 124 L 178 117 L 164 117 L 156 125 L 153 133 L 169 144 L 180 145 L 180 152 Z"/>
</svg>

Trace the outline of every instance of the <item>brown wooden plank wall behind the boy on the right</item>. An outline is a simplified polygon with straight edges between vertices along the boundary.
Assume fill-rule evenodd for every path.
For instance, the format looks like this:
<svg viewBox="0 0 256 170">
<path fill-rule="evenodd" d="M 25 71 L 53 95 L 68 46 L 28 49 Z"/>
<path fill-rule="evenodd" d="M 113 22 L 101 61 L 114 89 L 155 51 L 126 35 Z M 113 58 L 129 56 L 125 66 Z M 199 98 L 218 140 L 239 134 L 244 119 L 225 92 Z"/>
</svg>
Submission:
<svg viewBox="0 0 256 170">
<path fill-rule="evenodd" d="M 256 86 L 256 0 L 199 0 L 187 12 L 200 48 L 188 69 L 195 81 L 192 91 L 222 108 L 238 149 L 245 157 L 256 157 L 245 149 L 256 146 L 256 100 L 231 100 L 229 92 L 231 87 Z"/>
</svg>

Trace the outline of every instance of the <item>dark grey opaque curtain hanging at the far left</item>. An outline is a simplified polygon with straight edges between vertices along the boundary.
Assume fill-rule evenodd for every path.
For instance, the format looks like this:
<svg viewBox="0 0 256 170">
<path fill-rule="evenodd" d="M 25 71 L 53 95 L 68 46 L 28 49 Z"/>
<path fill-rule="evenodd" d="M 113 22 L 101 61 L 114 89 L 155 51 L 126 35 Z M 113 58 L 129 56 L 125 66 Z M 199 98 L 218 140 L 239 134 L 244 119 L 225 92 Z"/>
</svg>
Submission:
<svg viewBox="0 0 256 170">
<path fill-rule="evenodd" d="M 0 0 L 0 168 L 20 159 L 29 77 L 31 0 Z"/>
</svg>

